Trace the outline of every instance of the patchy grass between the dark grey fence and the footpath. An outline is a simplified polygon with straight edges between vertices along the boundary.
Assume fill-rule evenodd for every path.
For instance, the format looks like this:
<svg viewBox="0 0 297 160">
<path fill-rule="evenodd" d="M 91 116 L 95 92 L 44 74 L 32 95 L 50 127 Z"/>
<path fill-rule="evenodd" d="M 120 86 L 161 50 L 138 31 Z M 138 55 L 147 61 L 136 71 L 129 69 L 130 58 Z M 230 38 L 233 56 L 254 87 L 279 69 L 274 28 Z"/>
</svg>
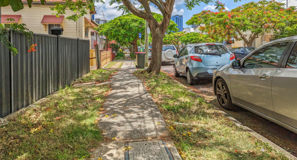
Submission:
<svg viewBox="0 0 297 160">
<path fill-rule="evenodd" d="M 109 90 L 109 85 L 66 86 L 28 108 L 0 128 L 0 159 L 88 158 L 102 140 L 96 119 Z"/>
</svg>

